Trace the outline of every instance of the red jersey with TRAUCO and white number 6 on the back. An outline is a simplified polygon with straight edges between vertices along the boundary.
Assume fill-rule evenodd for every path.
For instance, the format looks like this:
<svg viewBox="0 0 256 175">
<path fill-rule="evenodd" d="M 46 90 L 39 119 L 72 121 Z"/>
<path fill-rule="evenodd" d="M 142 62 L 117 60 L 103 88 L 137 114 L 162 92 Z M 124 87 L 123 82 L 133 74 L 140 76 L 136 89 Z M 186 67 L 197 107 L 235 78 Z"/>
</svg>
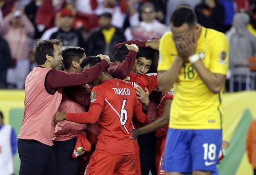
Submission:
<svg viewBox="0 0 256 175">
<path fill-rule="evenodd" d="M 138 122 L 147 122 L 141 108 L 133 86 L 116 79 L 105 80 L 92 89 L 89 111 L 68 113 L 66 119 L 80 123 L 98 121 L 96 150 L 109 155 L 129 155 L 135 154 L 131 125 L 133 116 Z"/>
</svg>

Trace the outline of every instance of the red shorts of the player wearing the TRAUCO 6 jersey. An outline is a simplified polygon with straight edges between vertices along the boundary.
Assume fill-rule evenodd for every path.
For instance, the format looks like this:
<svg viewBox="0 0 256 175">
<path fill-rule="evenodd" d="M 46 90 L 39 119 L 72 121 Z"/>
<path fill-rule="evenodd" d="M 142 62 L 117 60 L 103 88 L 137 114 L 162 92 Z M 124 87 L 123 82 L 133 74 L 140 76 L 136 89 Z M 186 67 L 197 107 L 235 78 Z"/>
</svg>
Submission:
<svg viewBox="0 0 256 175">
<path fill-rule="evenodd" d="M 108 155 L 94 151 L 85 175 L 134 175 L 135 154 Z"/>
</svg>

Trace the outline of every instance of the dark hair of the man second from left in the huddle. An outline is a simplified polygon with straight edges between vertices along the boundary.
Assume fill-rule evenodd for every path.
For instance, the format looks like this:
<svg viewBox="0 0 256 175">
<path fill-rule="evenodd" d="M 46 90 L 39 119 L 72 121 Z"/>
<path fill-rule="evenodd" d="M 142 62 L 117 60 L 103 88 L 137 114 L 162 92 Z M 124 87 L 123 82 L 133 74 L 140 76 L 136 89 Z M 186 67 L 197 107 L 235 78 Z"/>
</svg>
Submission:
<svg viewBox="0 0 256 175">
<path fill-rule="evenodd" d="M 76 47 L 67 47 L 61 51 L 63 57 L 62 65 L 65 70 L 70 69 L 72 61 L 75 60 L 79 63 L 80 59 L 83 58 L 85 53 L 84 48 Z"/>
</svg>

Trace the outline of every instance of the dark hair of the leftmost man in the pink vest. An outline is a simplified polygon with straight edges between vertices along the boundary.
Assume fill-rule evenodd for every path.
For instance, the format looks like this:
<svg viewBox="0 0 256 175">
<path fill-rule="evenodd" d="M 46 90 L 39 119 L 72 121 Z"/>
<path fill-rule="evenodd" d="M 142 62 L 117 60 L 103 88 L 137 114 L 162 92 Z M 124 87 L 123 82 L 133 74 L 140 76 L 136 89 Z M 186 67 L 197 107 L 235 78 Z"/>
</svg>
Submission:
<svg viewBox="0 0 256 175">
<path fill-rule="evenodd" d="M 54 44 L 61 46 L 62 42 L 59 41 L 58 39 L 49 39 L 49 40 L 39 41 L 34 46 L 33 54 L 38 65 L 42 65 L 45 63 L 47 54 L 53 57 Z"/>
</svg>

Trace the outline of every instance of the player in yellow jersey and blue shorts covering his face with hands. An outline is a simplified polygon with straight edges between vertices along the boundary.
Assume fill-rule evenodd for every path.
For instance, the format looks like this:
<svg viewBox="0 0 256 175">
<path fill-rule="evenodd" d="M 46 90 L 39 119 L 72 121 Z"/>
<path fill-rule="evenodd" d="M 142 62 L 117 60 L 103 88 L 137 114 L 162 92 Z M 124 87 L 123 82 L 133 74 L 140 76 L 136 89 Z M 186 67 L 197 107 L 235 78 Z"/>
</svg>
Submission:
<svg viewBox="0 0 256 175">
<path fill-rule="evenodd" d="M 221 88 L 228 70 L 224 33 L 197 25 L 188 7 L 171 16 L 171 31 L 160 40 L 159 88 L 174 84 L 163 168 L 166 175 L 211 175 L 222 141 Z"/>
</svg>

